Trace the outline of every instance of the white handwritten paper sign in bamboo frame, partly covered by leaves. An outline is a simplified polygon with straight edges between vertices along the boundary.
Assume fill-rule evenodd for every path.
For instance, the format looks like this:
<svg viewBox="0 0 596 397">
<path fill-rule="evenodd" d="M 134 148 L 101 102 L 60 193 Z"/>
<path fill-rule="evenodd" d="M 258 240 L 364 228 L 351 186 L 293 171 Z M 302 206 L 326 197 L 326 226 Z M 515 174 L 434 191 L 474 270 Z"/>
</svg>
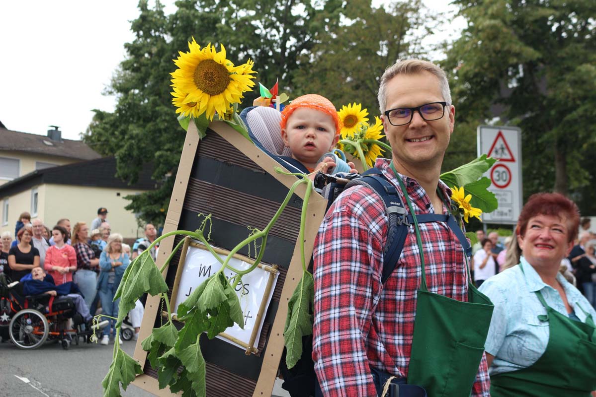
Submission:
<svg viewBox="0 0 596 397">
<path fill-rule="evenodd" d="M 226 255 L 219 254 L 219 257 L 224 259 Z M 229 265 L 238 270 L 246 270 L 251 266 L 249 262 L 244 262 L 237 258 L 231 258 Z M 173 312 L 178 312 L 178 305 L 188 298 L 195 287 L 199 286 L 202 282 L 215 274 L 221 267 L 221 263 L 213 257 L 211 252 L 193 246 L 188 247 L 186 260 L 184 261 L 184 268 L 182 268 L 182 273 L 180 274 L 178 294 L 176 295 L 176 303 Z M 257 267 L 242 277 L 242 282 L 236 287 L 236 293 L 238 299 L 240 299 L 240 307 L 244 315 L 244 329 L 241 329 L 238 324 L 234 324 L 233 327 L 229 327 L 225 330 L 227 335 L 233 336 L 248 344 L 254 327 L 258 327 L 257 336 L 253 346 L 259 345 L 259 336 L 263 327 L 263 319 L 265 318 L 265 312 L 271 302 L 271 297 L 273 296 L 275 284 L 277 283 L 277 277 L 279 275 L 279 273 L 274 274 L 275 278 L 269 296 L 263 296 L 265 295 L 265 289 L 269 282 L 270 274 L 271 272 Z M 226 270 L 224 271 L 224 275 L 226 279 L 231 279 L 236 274 L 233 271 Z M 260 323 L 255 324 L 257 313 L 259 312 L 263 299 L 266 299 L 267 301 L 265 312 L 263 312 L 263 317 L 261 318 Z M 220 336 L 218 337 L 226 342 L 232 343 L 232 345 L 246 349 L 229 339 Z"/>
</svg>

